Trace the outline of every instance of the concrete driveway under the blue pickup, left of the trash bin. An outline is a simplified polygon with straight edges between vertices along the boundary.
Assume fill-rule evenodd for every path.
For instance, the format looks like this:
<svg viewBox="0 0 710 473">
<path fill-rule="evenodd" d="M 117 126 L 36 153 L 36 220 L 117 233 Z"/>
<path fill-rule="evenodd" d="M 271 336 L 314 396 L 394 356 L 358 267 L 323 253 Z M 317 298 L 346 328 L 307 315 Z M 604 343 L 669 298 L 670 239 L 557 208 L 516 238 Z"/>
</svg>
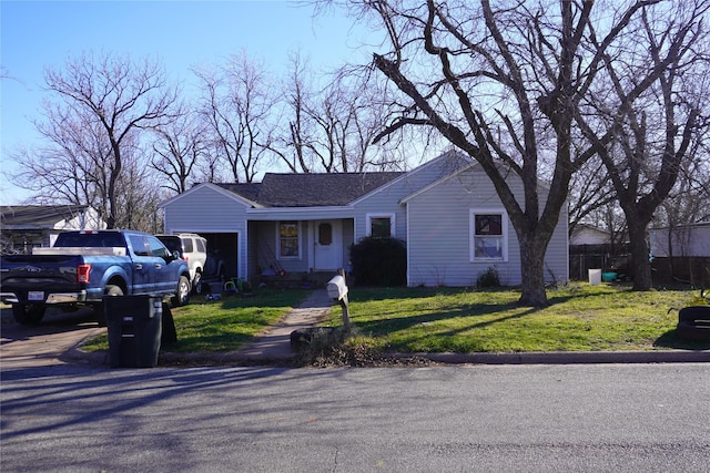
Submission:
<svg viewBox="0 0 710 473">
<path fill-rule="evenodd" d="M 64 364 L 60 357 L 85 338 L 105 331 L 90 309 L 62 312 L 51 308 L 39 326 L 21 326 L 9 306 L 0 309 L 0 367 L 4 369 Z"/>
</svg>

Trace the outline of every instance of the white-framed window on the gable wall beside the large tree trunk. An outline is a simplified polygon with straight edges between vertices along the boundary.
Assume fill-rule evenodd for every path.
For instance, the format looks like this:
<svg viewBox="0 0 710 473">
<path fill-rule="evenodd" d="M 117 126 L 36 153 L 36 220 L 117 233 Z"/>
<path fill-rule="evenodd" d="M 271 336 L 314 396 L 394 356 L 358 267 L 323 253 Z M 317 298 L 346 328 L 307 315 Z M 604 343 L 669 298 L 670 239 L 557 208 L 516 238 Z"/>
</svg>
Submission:
<svg viewBox="0 0 710 473">
<path fill-rule="evenodd" d="M 508 216 L 505 212 L 471 210 L 471 261 L 508 259 Z"/>
</svg>

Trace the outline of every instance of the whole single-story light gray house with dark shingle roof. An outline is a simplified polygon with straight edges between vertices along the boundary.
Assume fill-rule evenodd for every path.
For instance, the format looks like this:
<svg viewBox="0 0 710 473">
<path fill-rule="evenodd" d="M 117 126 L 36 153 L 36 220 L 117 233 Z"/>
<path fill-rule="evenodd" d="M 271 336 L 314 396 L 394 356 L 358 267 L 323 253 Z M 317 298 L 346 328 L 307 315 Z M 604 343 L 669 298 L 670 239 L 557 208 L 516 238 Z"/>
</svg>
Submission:
<svg viewBox="0 0 710 473">
<path fill-rule="evenodd" d="M 511 184 L 521 193 L 519 181 Z M 501 284 L 520 284 L 517 237 L 493 183 L 456 153 L 406 173 L 268 173 L 261 183 L 200 184 L 162 207 L 165 233 L 205 236 L 231 277 L 347 268 L 351 245 L 374 235 L 406 241 L 409 286 L 471 286 L 494 266 Z M 566 213 L 559 222 L 545 275 L 567 281 Z"/>
</svg>

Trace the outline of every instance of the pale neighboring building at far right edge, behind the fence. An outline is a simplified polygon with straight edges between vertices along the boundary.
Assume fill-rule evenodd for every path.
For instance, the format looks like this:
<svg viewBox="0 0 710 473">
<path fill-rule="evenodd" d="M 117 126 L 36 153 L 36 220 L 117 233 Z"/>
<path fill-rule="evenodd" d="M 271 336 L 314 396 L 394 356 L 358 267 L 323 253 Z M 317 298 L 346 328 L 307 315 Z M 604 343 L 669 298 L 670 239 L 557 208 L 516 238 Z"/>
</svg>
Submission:
<svg viewBox="0 0 710 473">
<path fill-rule="evenodd" d="M 652 228 L 653 257 L 710 257 L 710 222 L 676 228 Z"/>
</svg>

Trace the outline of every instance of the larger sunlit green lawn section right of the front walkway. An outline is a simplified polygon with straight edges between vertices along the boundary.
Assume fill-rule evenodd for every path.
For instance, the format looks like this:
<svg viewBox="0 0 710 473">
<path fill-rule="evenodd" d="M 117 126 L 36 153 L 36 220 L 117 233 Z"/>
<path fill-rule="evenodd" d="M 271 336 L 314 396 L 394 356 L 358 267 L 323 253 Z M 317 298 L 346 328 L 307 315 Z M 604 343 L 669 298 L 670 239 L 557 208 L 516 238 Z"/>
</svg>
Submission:
<svg viewBox="0 0 710 473">
<path fill-rule="evenodd" d="M 633 292 L 572 284 L 548 291 L 551 306 L 520 307 L 510 289 L 358 289 L 351 291 L 352 343 L 395 352 L 613 351 L 709 349 L 674 336 L 678 311 L 696 292 Z M 342 311 L 332 312 L 333 325 Z"/>
</svg>

